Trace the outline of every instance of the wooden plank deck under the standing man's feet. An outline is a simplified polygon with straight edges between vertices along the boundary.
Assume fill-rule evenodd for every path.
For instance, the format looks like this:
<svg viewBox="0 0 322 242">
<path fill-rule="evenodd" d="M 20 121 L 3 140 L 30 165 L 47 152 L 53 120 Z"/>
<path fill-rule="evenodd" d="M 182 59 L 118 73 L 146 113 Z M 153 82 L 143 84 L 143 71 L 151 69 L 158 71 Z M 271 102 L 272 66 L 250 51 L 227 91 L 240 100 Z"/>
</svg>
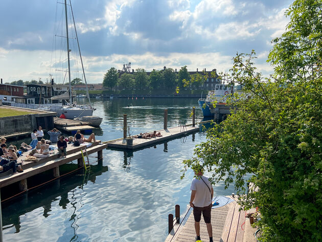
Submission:
<svg viewBox="0 0 322 242">
<path fill-rule="evenodd" d="M 245 211 L 239 211 L 240 205 L 237 204 L 237 197 L 227 196 L 233 199 L 223 207 L 214 208 L 211 212 L 213 226 L 213 240 L 217 242 L 242 242 L 244 230 L 241 225 L 245 222 Z M 175 224 L 165 242 L 194 242 L 196 231 L 194 227 L 194 217 L 191 212 L 185 225 Z M 203 241 L 209 241 L 206 225 L 201 216 L 200 237 Z"/>
</svg>

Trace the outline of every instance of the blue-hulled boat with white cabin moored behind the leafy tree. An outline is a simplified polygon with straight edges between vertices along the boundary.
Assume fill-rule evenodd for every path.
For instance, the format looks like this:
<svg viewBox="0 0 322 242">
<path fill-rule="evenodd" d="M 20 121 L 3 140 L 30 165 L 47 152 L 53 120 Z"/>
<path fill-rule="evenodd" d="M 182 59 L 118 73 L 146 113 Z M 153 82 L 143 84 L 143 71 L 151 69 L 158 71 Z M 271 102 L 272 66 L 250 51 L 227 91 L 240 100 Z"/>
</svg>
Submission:
<svg viewBox="0 0 322 242">
<path fill-rule="evenodd" d="M 202 111 L 203 117 L 213 117 L 214 112 L 213 103 L 215 102 L 220 106 L 226 105 L 226 99 L 229 95 L 234 93 L 234 85 L 216 84 L 215 90 L 209 91 L 206 98 L 198 100 L 199 107 Z"/>
</svg>

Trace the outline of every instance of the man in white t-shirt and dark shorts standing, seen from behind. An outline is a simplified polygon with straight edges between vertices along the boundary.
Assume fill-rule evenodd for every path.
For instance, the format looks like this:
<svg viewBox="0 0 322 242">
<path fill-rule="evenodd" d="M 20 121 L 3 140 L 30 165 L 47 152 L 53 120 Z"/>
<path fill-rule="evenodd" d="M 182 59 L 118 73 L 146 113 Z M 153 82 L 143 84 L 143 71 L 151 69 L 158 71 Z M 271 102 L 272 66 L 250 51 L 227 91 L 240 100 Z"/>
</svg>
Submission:
<svg viewBox="0 0 322 242">
<path fill-rule="evenodd" d="M 190 206 L 193 207 L 193 215 L 195 218 L 195 229 L 196 229 L 196 241 L 200 239 L 200 219 L 201 213 L 203 215 L 204 222 L 207 226 L 209 234 L 209 241 L 213 242 L 213 227 L 211 225 L 211 209 L 212 200 L 214 196 L 214 189 L 209 181 L 209 177 L 203 175 L 203 167 L 197 165 L 195 169 L 195 175 L 197 178 L 191 181 L 191 197 Z"/>
</svg>

